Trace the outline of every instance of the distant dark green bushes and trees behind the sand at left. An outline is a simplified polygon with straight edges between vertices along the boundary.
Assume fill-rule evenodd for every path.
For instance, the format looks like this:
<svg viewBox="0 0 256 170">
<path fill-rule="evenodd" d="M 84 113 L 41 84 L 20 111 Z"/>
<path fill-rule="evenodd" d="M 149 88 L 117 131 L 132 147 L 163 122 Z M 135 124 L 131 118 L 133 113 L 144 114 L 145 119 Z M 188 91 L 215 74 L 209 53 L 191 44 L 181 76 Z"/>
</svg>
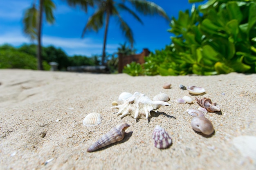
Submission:
<svg viewBox="0 0 256 170">
<path fill-rule="evenodd" d="M 8 44 L 0 46 L 0 68 L 37 69 L 36 45 L 23 44 L 15 48 Z M 65 71 L 67 66 L 94 66 L 99 65 L 97 56 L 86 57 L 82 55 L 67 56 L 66 53 L 54 46 L 42 47 L 42 59 L 45 70 L 49 70 L 49 62 L 57 62 L 58 70 Z"/>
</svg>

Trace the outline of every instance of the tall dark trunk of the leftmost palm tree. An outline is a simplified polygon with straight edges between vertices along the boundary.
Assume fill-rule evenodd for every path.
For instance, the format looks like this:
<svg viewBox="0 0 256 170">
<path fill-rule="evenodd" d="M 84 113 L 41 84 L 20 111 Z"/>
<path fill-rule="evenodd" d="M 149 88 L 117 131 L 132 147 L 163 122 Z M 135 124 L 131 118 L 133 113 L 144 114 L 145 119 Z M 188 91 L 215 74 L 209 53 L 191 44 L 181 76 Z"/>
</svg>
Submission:
<svg viewBox="0 0 256 170">
<path fill-rule="evenodd" d="M 43 18 L 43 1 L 40 0 L 39 2 L 39 15 L 38 15 L 38 28 L 37 28 L 37 49 L 36 49 L 36 55 L 37 55 L 37 69 L 43 70 L 43 64 L 42 64 L 42 48 L 41 48 L 41 31 L 42 31 L 42 18 Z"/>
</svg>

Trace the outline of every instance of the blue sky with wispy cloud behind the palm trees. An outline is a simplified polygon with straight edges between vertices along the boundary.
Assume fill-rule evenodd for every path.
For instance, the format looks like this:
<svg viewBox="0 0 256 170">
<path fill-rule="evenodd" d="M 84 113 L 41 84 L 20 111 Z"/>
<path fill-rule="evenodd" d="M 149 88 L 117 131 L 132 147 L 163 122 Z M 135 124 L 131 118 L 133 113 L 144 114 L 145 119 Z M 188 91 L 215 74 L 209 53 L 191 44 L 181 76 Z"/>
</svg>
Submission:
<svg viewBox="0 0 256 170">
<path fill-rule="evenodd" d="M 191 9 L 192 4 L 188 0 L 151 0 L 161 6 L 171 18 L 178 17 L 180 10 Z M 23 43 L 31 43 L 29 38 L 22 32 L 22 17 L 25 9 L 31 7 L 34 0 L 1 0 L 0 1 L 0 45 L 8 43 L 13 46 L 20 46 Z M 81 38 L 83 28 L 93 9 L 88 13 L 81 9 L 69 7 L 63 0 L 53 0 L 56 5 L 54 10 L 55 23 L 52 25 L 43 22 L 42 42 L 43 46 L 54 45 L 63 49 L 67 55 L 101 54 L 103 46 L 103 31 L 98 33 L 87 32 Z M 128 5 L 129 3 L 126 2 Z M 198 6 L 199 4 L 196 4 Z M 143 48 L 150 51 L 164 49 L 170 44 L 171 33 L 169 22 L 160 16 L 144 16 L 137 13 L 144 24 L 140 24 L 128 13 L 121 13 L 133 31 L 135 44 L 134 48 L 140 53 Z M 107 53 L 114 53 L 119 43 L 124 44 L 126 38 L 119 30 L 115 18 L 110 18 L 107 39 Z"/>
</svg>

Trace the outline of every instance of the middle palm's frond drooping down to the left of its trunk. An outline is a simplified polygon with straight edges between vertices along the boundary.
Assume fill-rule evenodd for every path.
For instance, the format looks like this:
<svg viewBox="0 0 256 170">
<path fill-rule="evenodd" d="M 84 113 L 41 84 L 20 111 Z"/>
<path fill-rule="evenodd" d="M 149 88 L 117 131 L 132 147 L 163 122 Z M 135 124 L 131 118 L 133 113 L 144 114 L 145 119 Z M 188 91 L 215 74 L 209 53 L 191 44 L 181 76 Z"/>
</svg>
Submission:
<svg viewBox="0 0 256 170">
<path fill-rule="evenodd" d="M 86 23 L 83 33 L 82 33 L 82 38 L 84 37 L 84 34 L 87 30 L 95 31 L 98 32 L 99 29 L 102 28 L 103 26 L 103 19 L 105 16 L 105 11 L 103 9 L 98 9 L 89 19 L 88 22 Z"/>
</svg>

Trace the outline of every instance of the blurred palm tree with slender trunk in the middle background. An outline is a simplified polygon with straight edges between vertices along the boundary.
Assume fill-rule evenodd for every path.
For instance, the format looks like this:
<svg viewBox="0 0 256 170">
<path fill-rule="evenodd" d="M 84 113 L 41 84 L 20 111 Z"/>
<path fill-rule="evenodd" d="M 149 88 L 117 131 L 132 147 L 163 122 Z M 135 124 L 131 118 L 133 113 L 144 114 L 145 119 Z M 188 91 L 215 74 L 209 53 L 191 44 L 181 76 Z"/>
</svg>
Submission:
<svg viewBox="0 0 256 170">
<path fill-rule="evenodd" d="M 131 44 L 131 47 L 133 47 L 134 39 L 132 30 L 128 26 L 128 24 L 121 18 L 119 12 L 121 10 L 128 11 L 136 20 L 141 22 L 141 19 L 139 16 L 132 11 L 130 8 L 128 8 L 125 5 L 125 2 L 128 1 L 132 4 L 135 9 L 144 14 L 144 15 L 160 15 L 164 17 L 166 20 L 169 20 L 167 14 L 165 11 L 159 7 L 154 2 L 150 2 L 147 0 L 122 0 L 121 2 L 116 2 L 115 0 L 94 0 L 94 3 L 97 5 L 97 10 L 94 12 L 94 14 L 88 19 L 88 22 L 86 23 L 82 37 L 84 37 L 85 32 L 87 30 L 93 30 L 93 31 L 99 31 L 99 29 L 102 28 L 103 22 L 105 20 L 105 31 L 104 31 L 104 38 L 103 38 L 103 50 L 102 50 L 102 58 L 101 63 L 105 64 L 105 56 L 106 56 L 106 41 L 107 41 L 107 33 L 108 33 L 108 24 L 110 16 L 116 17 L 120 24 L 120 29 L 122 32 L 124 32 L 125 37 L 128 39 L 128 41 Z"/>
</svg>

